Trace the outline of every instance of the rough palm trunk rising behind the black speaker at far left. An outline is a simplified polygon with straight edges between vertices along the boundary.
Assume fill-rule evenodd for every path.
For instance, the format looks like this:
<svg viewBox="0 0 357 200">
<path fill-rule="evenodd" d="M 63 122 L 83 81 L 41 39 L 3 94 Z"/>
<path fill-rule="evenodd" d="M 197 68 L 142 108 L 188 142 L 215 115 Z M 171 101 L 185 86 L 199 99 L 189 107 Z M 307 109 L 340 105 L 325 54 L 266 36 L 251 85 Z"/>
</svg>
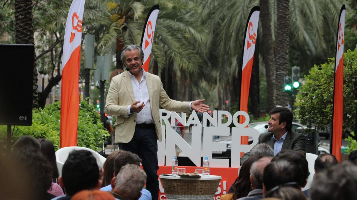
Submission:
<svg viewBox="0 0 357 200">
<path fill-rule="evenodd" d="M 32 25 L 32 0 L 15 0 L 15 43 L 34 44 L 34 28 Z M 32 82 L 32 107 L 39 106 L 37 93 L 36 53 L 34 53 L 34 80 Z"/>
</svg>

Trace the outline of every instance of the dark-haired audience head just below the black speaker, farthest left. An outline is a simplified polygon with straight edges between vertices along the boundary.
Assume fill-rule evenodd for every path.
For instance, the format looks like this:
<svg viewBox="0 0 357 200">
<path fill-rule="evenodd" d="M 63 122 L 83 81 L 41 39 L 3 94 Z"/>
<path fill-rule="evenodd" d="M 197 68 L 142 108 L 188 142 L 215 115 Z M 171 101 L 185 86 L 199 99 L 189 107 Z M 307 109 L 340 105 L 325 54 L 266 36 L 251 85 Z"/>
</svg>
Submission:
<svg viewBox="0 0 357 200">
<path fill-rule="evenodd" d="M 14 143 L 14 153 L 23 151 L 41 151 L 40 142 L 32 136 L 21 136 Z"/>
</svg>

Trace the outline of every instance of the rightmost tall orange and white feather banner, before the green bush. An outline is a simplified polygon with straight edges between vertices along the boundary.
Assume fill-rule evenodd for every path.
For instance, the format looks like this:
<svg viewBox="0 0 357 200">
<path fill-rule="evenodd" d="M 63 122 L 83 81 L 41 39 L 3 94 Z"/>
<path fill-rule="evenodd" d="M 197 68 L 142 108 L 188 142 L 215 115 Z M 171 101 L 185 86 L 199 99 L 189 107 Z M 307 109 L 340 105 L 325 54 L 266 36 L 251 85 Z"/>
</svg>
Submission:
<svg viewBox="0 0 357 200">
<path fill-rule="evenodd" d="M 335 84 L 333 91 L 333 123 L 332 123 L 332 154 L 341 161 L 342 124 L 343 124 L 343 44 L 345 38 L 345 5 L 340 11 L 338 21 L 336 60 L 335 60 Z"/>
</svg>

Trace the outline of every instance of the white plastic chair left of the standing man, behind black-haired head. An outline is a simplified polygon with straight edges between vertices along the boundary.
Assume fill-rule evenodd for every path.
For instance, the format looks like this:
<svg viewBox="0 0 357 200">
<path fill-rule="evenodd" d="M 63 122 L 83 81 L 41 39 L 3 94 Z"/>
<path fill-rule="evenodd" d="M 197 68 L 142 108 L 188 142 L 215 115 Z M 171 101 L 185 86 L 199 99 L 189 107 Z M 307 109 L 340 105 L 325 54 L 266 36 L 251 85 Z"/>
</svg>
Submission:
<svg viewBox="0 0 357 200">
<path fill-rule="evenodd" d="M 100 155 L 98 152 L 93 151 L 90 148 L 86 148 L 86 147 L 63 147 L 56 151 L 56 163 L 57 163 L 58 173 L 60 176 L 62 176 L 63 164 L 67 160 L 69 153 L 73 150 L 87 150 L 92 152 L 95 159 L 97 160 L 99 169 L 103 167 L 106 158 Z"/>
</svg>

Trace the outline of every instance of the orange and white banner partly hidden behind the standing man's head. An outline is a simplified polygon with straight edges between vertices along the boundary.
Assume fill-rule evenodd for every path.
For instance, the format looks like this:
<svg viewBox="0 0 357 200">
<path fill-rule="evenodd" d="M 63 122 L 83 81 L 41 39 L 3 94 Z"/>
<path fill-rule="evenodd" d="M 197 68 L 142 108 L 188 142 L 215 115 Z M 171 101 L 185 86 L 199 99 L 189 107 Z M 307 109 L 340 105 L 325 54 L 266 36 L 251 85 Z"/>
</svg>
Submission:
<svg viewBox="0 0 357 200">
<path fill-rule="evenodd" d="M 149 14 L 147 14 L 146 17 L 144 30 L 142 31 L 141 48 L 144 51 L 144 62 L 142 64 L 142 68 L 146 72 L 149 71 L 152 42 L 154 41 L 156 19 L 159 11 L 159 5 L 154 5 L 151 7 Z"/>
</svg>

